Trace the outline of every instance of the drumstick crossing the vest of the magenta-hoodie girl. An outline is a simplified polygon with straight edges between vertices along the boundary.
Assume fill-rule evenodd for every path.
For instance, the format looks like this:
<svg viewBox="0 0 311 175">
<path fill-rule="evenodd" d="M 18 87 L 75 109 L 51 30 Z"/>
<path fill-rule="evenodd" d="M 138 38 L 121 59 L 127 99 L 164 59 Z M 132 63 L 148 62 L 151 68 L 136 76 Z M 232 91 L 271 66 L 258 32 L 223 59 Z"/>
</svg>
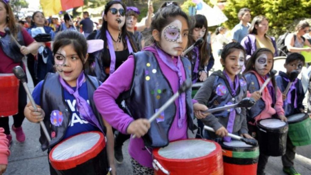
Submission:
<svg viewBox="0 0 311 175">
<path fill-rule="evenodd" d="M 161 114 L 161 112 L 163 112 L 166 108 L 169 107 L 169 105 L 171 105 L 175 100 L 176 98 L 179 97 L 179 95 L 183 92 L 186 92 L 190 87 L 191 87 L 191 81 L 187 80 L 187 81 L 184 81 L 183 84 L 179 87 L 179 90 L 178 92 L 174 93 L 174 95 L 172 97 L 170 97 L 165 103 L 163 106 L 160 107 L 159 111 L 157 111 L 155 114 L 153 114 L 150 118 L 149 118 L 149 123 L 152 123 L 154 120 L 156 120 L 156 118 L 158 118 Z M 132 136 L 132 138 L 136 138 L 136 135 L 134 134 Z"/>
</svg>

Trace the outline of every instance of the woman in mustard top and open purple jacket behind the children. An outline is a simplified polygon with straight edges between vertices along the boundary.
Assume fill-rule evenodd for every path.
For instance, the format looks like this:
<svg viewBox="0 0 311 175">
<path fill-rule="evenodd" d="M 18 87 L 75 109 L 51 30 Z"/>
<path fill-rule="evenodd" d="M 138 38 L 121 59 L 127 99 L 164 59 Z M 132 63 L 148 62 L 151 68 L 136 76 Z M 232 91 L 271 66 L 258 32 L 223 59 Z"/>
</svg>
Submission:
<svg viewBox="0 0 311 175">
<path fill-rule="evenodd" d="M 274 53 L 274 57 L 278 56 L 275 38 L 267 35 L 268 29 L 269 21 L 266 17 L 262 15 L 254 17 L 248 29 L 249 34 L 241 41 L 246 52 L 246 59 L 259 48 L 268 48 Z"/>
</svg>

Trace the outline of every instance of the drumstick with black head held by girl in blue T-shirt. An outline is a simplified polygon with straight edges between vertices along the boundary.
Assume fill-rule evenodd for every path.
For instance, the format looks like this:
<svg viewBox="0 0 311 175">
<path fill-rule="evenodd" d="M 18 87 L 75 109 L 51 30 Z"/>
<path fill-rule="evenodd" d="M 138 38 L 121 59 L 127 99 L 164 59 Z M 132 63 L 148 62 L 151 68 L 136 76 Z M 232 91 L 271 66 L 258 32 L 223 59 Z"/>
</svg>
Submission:
<svg viewBox="0 0 311 175">
<path fill-rule="evenodd" d="M 32 98 L 30 90 L 29 90 L 29 87 L 28 87 L 28 85 L 26 83 L 26 74 L 25 74 L 24 70 L 21 68 L 21 66 L 15 66 L 13 68 L 13 73 L 16 76 L 16 78 L 18 78 L 23 83 L 23 86 L 25 88 L 27 96 L 28 96 L 32 106 L 35 108 L 35 111 L 37 111 L 38 108 L 36 106 L 35 100 Z M 41 128 L 42 128 L 42 130 L 44 132 L 44 135 L 45 135 L 46 139 L 50 142 L 51 138 L 50 138 L 48 130 L 46 129 L 43 121 L 40 121 L 40 126 L 41 126 Z"/>
</svg>

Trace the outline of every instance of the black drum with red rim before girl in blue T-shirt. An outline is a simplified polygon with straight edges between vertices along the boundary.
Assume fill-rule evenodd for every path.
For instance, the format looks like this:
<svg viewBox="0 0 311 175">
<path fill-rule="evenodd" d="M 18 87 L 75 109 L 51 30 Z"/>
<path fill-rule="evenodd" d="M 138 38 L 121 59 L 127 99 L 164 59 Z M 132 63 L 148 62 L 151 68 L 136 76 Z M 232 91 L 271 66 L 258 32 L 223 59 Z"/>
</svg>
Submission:
<svg viewBox="0 0 311 175">
<path fill-rule="evenodd" d="M 58 143 L 49 159 L 58 174 L 106 175 L 109 164 L 105 145 L 101 132 L 83 132 Z"/>
</svg>

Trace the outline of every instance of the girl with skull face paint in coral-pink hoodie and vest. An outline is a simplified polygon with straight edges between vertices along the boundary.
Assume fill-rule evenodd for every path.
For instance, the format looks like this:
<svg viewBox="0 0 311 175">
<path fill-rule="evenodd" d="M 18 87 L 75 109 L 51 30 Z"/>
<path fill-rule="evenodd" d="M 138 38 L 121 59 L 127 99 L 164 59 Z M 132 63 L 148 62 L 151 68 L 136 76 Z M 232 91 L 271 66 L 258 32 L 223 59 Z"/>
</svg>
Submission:
<svg viewBox="0 0 311 175">
<path fill-rule="evenodd" d="M 267 118 L 279 118 L 287 121 L 284 116 L 282 93 L 276 85 L 275 77 L 271 77 L 271 81 L 260 94 L 259 89 L 264 81 L 270 76 L 269 72 L 273 68 L 273 53 L 271 50 L 261 48 L 248 59 L 245 66 L 244 76 L 247 82 L 247 97 L 256 100 L 256 104 L 247 110 L 247 121 L 249 134 L 254 138 L 256 135 L 257 121 Z M 258 139 L 257 139 L 258 140 Z M 264 174 L 269 156 L 259 155 L 257 174 Z"/>
</svg>

